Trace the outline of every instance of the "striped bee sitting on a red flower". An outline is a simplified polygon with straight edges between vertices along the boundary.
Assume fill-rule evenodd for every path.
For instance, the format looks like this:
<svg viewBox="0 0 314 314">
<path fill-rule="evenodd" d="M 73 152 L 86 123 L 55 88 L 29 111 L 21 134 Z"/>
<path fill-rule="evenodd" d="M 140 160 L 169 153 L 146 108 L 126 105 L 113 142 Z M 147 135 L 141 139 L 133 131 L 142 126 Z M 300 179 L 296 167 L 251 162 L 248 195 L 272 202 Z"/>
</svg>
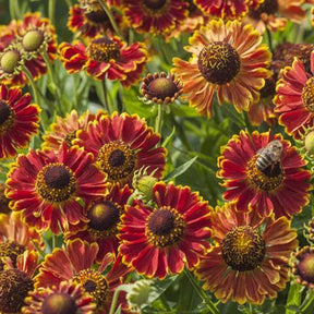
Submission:
<svg viewBox="0 0 314 314">
<path fill-rule="evenodd" d="M 269 166 L 273 170 L 282 156 L 283 146 L 278 140 L 269 142 L 265 147 L 261 148 L 256 159 L 256 168 L 259 171 L 265 171 Z"/>
</svg>

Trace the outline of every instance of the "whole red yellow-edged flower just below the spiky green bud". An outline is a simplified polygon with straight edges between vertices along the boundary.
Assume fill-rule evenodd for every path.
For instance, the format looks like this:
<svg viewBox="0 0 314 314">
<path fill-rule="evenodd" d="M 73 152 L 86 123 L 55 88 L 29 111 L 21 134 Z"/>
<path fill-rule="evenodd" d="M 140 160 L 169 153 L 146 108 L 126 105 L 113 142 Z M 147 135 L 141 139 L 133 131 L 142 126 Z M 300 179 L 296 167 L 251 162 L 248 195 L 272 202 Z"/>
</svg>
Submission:
<svg viewBox="0 0 314 314">
<path fill-rule="evenodd" d="M 123 262 L 147 277 L 192 269 L 209 247 L 212 207 L 188 186 L 158 182 L 153 194 L 156 207 L 135 201 L 121 218 Z"/>
</svg>

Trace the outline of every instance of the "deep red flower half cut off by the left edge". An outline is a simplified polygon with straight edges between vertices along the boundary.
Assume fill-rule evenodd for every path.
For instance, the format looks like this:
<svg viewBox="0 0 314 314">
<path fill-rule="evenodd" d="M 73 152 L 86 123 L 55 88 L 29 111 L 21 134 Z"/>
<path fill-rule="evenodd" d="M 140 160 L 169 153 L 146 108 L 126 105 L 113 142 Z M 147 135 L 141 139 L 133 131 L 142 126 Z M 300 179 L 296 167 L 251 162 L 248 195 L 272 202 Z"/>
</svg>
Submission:
<svg viewBox="0 0 314 314">
<path fill-rule="evenodd" d="M 39 107 L 17 87 L 0 85 L 0 158 L 15 156 L 39 128 Z"/>
</svg>

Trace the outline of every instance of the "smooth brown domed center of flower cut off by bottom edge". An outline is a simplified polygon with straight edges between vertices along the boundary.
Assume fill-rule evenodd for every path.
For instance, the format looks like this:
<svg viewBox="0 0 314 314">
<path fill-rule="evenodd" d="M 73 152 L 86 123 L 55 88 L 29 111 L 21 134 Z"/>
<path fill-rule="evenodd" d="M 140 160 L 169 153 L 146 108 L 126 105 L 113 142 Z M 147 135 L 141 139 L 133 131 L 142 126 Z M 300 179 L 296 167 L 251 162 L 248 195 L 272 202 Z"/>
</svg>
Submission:
<svg viewBox="0 0 314 314">
<path fill-rule="evenodd" d="M 48 295 L 41 307 L 43 314 L 76 314 L 77 305 L 68 293 L 53 293 Z"/>
</svg>

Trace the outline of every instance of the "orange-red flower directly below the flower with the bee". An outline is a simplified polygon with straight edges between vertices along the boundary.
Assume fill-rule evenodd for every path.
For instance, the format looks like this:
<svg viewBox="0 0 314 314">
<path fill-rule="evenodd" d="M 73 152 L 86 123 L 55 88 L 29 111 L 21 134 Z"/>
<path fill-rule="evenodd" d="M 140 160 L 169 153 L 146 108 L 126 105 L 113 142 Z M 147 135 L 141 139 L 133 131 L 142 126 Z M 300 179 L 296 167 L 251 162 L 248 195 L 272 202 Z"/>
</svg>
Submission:
<svg viewBox="0 0 314 314">
<path fill-rule="evenodd" d="M 212 221 L 216 245 L 195 271 L 204 289 L 222 302 L 240 304 L 276 298 L 289 280 L 288 258 L 298 245 L 291 221 L 238 212 L 235 203 L 217 207 Z"/>
</svg>

